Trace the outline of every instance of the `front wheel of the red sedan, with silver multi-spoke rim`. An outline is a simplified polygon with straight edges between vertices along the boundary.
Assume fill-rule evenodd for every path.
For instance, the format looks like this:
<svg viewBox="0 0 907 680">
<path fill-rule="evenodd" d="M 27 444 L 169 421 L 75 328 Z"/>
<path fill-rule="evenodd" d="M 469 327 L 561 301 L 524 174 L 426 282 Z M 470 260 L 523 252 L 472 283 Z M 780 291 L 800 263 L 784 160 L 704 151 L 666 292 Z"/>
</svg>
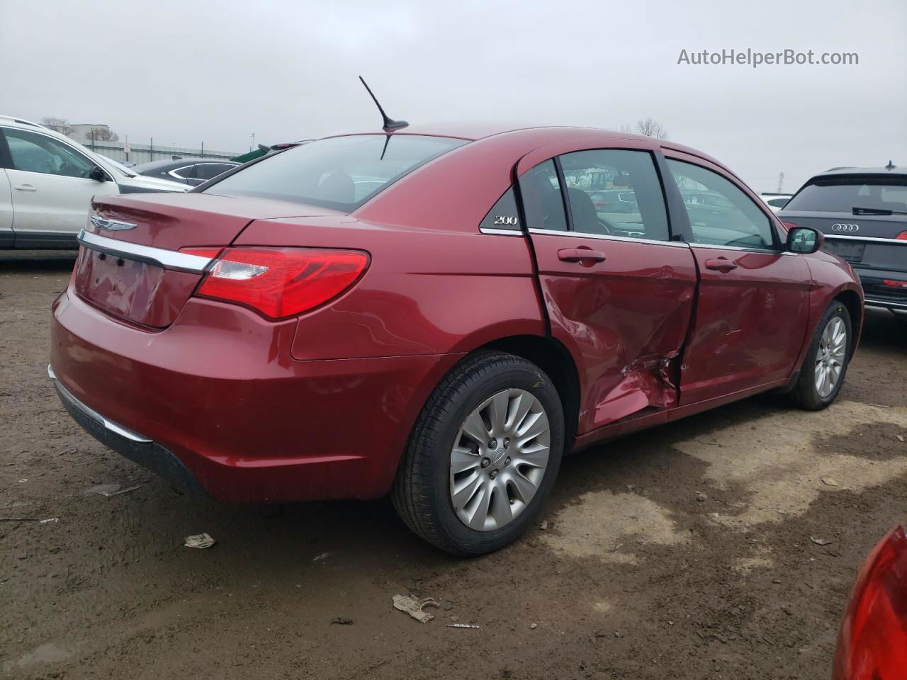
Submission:
<svg viewBox="0 0 907 680">
<path fill-rule="evenodd" d="M 819 319 L 791 397 L 801 408 L 820 411 L 834 402 L 850 360 L 853 326 L 847 307 L 834 300 Z"/>
</svg>

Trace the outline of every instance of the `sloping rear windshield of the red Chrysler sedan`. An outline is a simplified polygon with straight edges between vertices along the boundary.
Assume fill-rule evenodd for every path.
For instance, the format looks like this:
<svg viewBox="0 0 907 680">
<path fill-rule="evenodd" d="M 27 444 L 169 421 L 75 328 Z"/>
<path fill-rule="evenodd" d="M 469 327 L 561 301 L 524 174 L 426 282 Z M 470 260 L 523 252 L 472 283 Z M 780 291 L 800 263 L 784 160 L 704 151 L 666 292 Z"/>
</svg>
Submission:
<svg viewBox="0 0 907 680">
<path fill-rule="evenodd" d="M 420 165 L 465 140 L 418 135 L 354 135 L 310 141 L 249 165 L 205 189 L 352 212 Z"/>
</svg>

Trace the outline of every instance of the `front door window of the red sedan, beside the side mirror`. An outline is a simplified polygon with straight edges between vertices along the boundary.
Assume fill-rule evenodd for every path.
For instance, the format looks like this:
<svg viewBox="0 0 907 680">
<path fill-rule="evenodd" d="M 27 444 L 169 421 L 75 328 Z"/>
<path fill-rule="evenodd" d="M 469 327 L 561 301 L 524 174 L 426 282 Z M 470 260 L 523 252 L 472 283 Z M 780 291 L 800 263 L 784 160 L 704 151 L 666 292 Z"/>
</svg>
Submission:
<svg viewBox="0 0 907 680">
<path fill-rule="evenodd" d="M 771 220 L 733 182 L 682 160 L 668 159 L 668 168 L 687 209 L 694 243 L 775 248 Z"/>
</svg>

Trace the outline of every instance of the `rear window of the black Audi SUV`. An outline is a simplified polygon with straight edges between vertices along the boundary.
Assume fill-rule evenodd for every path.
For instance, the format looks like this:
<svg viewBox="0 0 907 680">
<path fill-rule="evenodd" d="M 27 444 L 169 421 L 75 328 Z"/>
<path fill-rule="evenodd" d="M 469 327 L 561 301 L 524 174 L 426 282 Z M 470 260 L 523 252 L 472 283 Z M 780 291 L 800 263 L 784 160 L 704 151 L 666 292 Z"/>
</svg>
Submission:
<svg viewBox="0 0 907 680">
<path fill-rule="evenodd" d="M 854 208 L 907 210 L 907 177 L 817 177 L 785 205 L 785 210 L 815 212 L 851 212 Z"/>
</svg>

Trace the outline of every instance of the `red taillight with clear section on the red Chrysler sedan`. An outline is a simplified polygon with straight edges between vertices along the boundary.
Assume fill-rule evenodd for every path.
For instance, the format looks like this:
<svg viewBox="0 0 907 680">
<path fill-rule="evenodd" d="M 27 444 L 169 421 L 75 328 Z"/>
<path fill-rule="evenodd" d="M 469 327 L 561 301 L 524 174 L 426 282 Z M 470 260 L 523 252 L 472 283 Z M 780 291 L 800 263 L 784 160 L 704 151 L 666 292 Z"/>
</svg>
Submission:
<svg viewBox="0 0 907 680">
<path fill-rule="evenodd" d="M 190 250 L 200 254 L 202 248 Z M 340 295 L 367 267 L 368 254 L 361 250 L 227 248 L 208 268 L 195 295 L 286 318 Z"/>
</svg>

